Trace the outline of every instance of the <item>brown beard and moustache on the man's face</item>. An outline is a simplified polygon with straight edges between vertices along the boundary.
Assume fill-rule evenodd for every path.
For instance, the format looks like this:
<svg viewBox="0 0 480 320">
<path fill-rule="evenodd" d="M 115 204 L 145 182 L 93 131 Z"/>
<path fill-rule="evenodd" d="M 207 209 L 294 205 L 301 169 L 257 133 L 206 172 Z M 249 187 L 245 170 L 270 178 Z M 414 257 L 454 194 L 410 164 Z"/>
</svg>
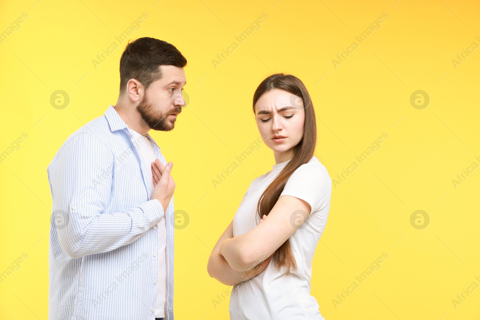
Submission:
<svg viewBox="0 0 480 320">
<path fill-rule="evenodd" d="M 158 131 L 170 131 L 175 127 L 175 120 L 170 119 L 169 115 L 172 113 L 180 113 L 181 107 L 176 106 L 173 110 L 168 110 L 166 113 L 156 112 L 153 105 L 144 95 L 142 101 L 137 106 L 137 111 L 144 122 L 150 127 L 150 129 Z"/>
</svg>

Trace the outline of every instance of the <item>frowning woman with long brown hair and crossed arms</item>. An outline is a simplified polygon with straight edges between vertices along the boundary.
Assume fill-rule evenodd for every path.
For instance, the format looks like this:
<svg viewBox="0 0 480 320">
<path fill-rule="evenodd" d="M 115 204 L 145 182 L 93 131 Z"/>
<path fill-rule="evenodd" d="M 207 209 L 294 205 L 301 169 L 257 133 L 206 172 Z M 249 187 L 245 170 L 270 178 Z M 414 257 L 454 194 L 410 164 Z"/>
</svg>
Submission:
<svg viewBox="0 0 480 320">
<path fill-rule="evenodd" d="M 312 260 L 327 222 L 332 180 L 313 155 L 315 111 L 305 85 L 273 74 L 253 95 L 272 170 L 255 178 L 208 260 L 233 285 L 230 319 L 323 319 L 310 295 Z"/>
</svg>

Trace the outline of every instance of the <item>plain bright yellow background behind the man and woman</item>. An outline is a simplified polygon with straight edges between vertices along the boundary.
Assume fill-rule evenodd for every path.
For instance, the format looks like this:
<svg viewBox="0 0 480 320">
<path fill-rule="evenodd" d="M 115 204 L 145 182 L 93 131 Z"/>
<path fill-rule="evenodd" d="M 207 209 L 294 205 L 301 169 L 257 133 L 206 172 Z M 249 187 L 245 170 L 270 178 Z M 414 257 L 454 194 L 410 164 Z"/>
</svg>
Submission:
<svg viewBox="0 0 480 320">
<path fill-rule="evenodd" d="M 48 319 L 47 166 L 72 132 L 117 101 L 127 42 L 97 68 L 92 59 L 142 12 L 148 18 L 129 39 L 168 41 L 188 60 L 190 104 L 174 130 L 150 131 L 174 163 L 175 209 L 191 219 L 175 235 L 176 319 L 228 319 L 228 301 L 212 303 L 226 286 L 209 277 L 207 260 L 250 182 L 275 164 L 273 154 L 261 144 L 216 189 L 212 179 L 260 136 L 252 95 L 274 72 L 296 75 L 312 95 L 316 155 L 332 179 L 388 133 L 332 189 L 312 267 L 325 319 L 479 319 L 480 288 L 452 303 L 480 285 L 480 169 L 452 183 L 480 164 L 480 49 L 452 63 L 472 42 L 480 45 L 478 2 L 36 1 L 0 5 L 0 32 L 28 14 L 0 44 L 0 152 L 28 134 L 0 164 L 0 273 L 28 254 L 0 284 L 1 319 Z M 235 36 L 262 12 L 268 18 L 240 44 Z M 355 36 L 382 12 L 388 18 L 360 44 Z M 359 47 L 335 68 L 332 59 L 354 41 Z M 215 68 L 212 59 L 232 42 L 239 47 Z M 70 96 L 62 110 L 49 102 L 56 90 Z M 416 90 L 431 99 L 422 110 L 409 102 Z M 430 217 L 424 229 L 410 224 L 416 210 Z M 332 299 L 382 252 L 381 269 L 335 308 Z"/>
</svg>

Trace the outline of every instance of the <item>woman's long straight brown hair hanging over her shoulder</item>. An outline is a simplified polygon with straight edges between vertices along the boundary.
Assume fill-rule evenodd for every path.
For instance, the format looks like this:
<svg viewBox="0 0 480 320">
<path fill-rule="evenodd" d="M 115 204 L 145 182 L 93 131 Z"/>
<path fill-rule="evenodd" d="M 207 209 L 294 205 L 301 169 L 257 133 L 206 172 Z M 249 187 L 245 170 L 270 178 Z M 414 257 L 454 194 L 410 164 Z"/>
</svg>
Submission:
<svg viewBox="0 0 480 320">
<path fill-rule="evenodd" d="M 315 110 L 313 109 L 312 99 L 310 98 L 307 88 L 300 79 L 291 74 L 272 74 L 259 84 L 257 90 L 255 90 L 255 94 L 253 94 L 253 114 L 255 114 L 255 104 L 258 99 L 264 93 L 274 89 L 283 89 L 301 98 L 305 110 L 305 121 L 303 124 L 303 138 L 293 148 L 293 158 L 272 183 L 270 183 L 258 200 L 257 213 L 260 218 L 263 217 L 264 214 L 268 215 L 268 213 L 270 213 L 292 173 L 298 167 L 308 163 L 310 159 L 312 159 L 317 141 L 317 124 L 315 121 Z M 289 239 L 276 249 L 272 260 L 277 268 L 284 266 L 287 270 L 287 274 L 290 273 L 291 269 L 297 269 L 297 263 Z"/>
</svg>

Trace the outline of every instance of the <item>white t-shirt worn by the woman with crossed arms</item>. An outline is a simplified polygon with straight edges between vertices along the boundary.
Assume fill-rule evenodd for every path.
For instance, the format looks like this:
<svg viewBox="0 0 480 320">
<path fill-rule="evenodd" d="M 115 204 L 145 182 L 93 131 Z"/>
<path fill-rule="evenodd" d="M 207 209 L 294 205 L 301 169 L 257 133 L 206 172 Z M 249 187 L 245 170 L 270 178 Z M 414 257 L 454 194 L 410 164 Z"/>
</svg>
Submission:
<svg viewBox="0 0 480 320">
<path fill-rule="evenodd" d="M 271 171 L 252 181 L 233 218 L 234 237 L 258 225 L 258 200 L 290 161 L 272 166 Z M 330 210 L 331 192 L 332 180 L 315 156 L 288 178 L 280 196 L 300 198 L 312 207 L 306 222 L 289 237 L 298 269 L 286 275 L 284 268 L 278 270 L 270 261 L 263 273 L 235 285 L 230 296 L 231 320 L 323 319 L 316 299 L 310 295 L 310 279 L 313 255 Z"/>
</svg>

